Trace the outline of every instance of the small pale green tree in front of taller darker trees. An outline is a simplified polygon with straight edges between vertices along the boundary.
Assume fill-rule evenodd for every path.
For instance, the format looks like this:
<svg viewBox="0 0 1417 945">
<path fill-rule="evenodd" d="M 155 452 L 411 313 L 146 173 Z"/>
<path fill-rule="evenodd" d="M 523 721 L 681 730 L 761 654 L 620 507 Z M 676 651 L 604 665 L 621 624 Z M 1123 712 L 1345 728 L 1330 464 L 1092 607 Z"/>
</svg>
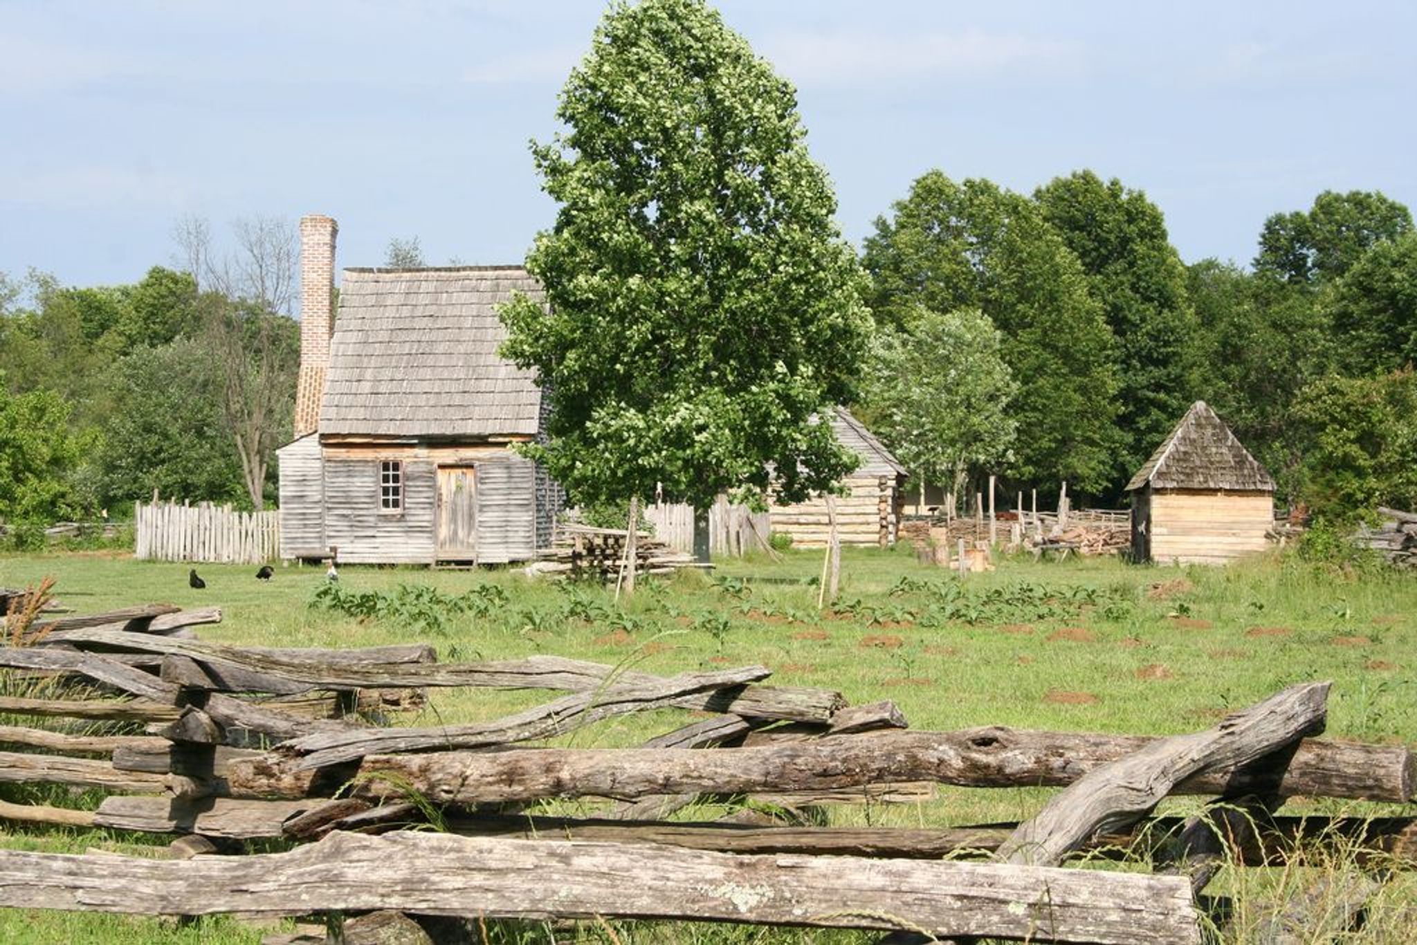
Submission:
<svg viewBox="0 0 1417 945">
<path fill-rule="evenodd" d="M 1019 392 L 1003 339 L 983 312 L 921 310 L 871 346 L 863 405 L 873 429 L 911 473 L 962 494 L 972 475 L 1012 458 Z"/>
</svg>

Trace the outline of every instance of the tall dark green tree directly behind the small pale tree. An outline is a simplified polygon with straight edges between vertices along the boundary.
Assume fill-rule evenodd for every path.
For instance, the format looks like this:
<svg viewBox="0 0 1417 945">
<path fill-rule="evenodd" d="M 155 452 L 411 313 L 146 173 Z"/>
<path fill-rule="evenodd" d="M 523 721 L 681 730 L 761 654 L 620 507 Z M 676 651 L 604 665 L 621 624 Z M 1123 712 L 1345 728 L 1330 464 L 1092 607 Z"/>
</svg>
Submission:
<svg viewBox="0 0 1417 945">
<path fill-rule="evenodd" d="M 1040 487 L 1101 493 L 1115 479 L 1115 344 L 1077 256 L 1039 205 L 935 170 L 876 221 L 864 262 L 877 319 L 908 329 L 921 307 L 981 309 L 1019 381 L 1009 466 Z"/>
</svg>

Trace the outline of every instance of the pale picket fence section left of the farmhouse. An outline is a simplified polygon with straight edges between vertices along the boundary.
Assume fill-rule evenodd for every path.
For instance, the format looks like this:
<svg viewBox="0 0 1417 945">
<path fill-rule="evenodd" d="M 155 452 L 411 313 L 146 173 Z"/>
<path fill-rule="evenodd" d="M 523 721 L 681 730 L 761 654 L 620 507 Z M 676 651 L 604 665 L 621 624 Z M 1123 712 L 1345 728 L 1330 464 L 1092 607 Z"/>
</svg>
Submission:
<svg viewBox="0 0 1417 945">
<path fill-rule="evenodd" d="M 203 502 L 137 503 L 135 557 L 150 561 L 264 564 L 281 555 L 279 511 L 235 511 Z"/>
</svg>

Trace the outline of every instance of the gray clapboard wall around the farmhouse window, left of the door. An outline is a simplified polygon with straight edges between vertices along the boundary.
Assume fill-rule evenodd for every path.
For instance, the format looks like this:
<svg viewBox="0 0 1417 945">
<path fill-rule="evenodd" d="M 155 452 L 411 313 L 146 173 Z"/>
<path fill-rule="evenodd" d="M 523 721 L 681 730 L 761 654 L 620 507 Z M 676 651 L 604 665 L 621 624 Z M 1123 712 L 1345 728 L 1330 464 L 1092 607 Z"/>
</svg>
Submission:
<svg viewBox="0 0 1417 945">
<path fill-rule="evenodd" d="M 434 463 L 404 462 L 404 507 L 378 507 L 378 458 L 324 459 L 324 538 L 350 564 L 429 564 L 434 560 Z"/>
</svg>

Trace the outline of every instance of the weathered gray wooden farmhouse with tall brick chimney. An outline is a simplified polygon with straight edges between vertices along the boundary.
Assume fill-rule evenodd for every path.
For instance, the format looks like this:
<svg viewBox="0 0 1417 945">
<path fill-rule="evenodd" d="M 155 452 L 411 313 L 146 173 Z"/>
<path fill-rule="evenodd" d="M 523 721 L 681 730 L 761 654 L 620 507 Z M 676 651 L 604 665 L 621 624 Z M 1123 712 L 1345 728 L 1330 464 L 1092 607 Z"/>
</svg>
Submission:
<svg viewBox="0 0 1417 945">
<path fill-rule="evenodd" d="M 512 452 L 544 419 L 497 356 L 495 306 L 538 295 L 519 266 L 346 269 L 336 224 L 300 221 L 296 439 L 279 451 L 281 557 L 506 562 L 551 538 L 560 490 Z"/>
</svg>

